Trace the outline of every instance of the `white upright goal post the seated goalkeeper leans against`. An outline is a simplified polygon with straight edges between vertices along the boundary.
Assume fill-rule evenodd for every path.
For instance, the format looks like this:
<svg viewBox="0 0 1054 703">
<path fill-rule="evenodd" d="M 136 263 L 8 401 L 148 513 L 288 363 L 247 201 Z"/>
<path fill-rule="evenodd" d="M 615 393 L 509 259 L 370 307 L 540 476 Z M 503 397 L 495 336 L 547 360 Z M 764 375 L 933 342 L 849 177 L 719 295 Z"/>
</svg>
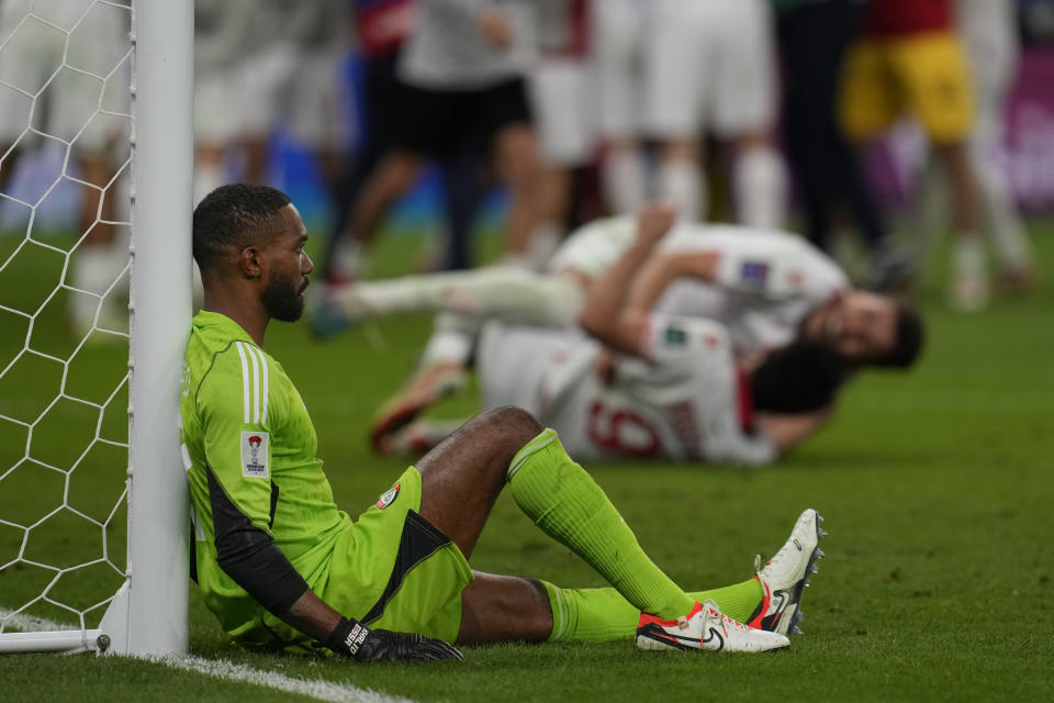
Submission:
<svg viewBox="0 0 1054 703">
<path fill-rule="evenodd" d="M 192 2 L 132 3 L 128 654 L 187 650 L 179 388 L 191 316 Z M 105 623 L 105 618 L 103 620 Z"/>
</svg>

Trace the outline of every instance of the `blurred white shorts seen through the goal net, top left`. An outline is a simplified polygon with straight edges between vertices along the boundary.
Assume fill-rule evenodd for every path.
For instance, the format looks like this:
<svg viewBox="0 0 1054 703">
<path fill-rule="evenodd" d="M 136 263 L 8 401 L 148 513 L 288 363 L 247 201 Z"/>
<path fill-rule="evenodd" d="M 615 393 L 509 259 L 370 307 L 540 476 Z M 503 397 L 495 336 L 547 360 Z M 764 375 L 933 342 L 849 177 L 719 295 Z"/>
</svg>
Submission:
<svg viewBox="0 0 1054 703">
<path fill-rule="evenodd" d="M 128 11 L 96 3 L 78 23 L 89 5 L 86 0 L 44 3 L 34 5 L 34 16 L 25 19 L 25 2 L 2 4 L 0 142 L 22 137 L 20 146 L 27 146 L 35 136 L 27 132 L 32 126 L 71 143 L 80 153 L 99 153 L 127 135 Z M 74 31 L 67 34 L 56 27 Z"/>
</svg>

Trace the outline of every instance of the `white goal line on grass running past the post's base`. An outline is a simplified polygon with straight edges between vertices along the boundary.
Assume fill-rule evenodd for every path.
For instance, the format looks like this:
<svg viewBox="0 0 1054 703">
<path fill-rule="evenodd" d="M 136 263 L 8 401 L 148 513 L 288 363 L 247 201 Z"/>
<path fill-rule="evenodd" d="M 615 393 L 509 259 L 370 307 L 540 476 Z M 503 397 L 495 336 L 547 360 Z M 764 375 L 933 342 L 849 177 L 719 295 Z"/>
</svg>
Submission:
<svg viewBox="0 0 1054 703">
<path fill-rule="evenodd" d="M 56 623 L 43 617 L 23 615 L 22 613 L 16 614 L 14 611 L 2 607 L 0 607 L 0 620 L 3 621 L 4 629 L 14 628 L 22 632 L 80 629 L 76 625 L 68 623 Z M 173 669 L 194 671 L 206 677 L 226 679 L 227 681 L 262 685 L 287 693 L 299 693 L 330 703 L 413 703 L 411 699 L 378 693 L 369 689 L 360 689 L 350 683 L 334 683 L 325 679 L 287 677 L 281 673 L 274 673 L 273 671 L 261 671 L 246 665 L 234 663 L 223 659 L 204 659 L 193 655 L 184 655 L 181 657 L 150 657 L 147 660 L 162 663 Z"/>
</svg>

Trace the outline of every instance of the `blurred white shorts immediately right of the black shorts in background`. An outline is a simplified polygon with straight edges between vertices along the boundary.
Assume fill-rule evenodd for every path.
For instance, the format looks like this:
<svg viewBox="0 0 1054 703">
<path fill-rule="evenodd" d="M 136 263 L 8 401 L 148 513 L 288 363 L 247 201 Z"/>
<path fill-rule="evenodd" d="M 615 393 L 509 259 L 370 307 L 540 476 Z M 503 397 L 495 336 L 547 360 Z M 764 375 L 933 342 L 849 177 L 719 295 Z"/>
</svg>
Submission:
<svg viewBox="0 0 1054 703">
<path fill-rule="evenodd" d="M 587 64 L 569 57 L 542 58 L 529 86 L 542 158 L 563 167 L 588 163 L 595 138 L 595 102 Z"/>
</svg>

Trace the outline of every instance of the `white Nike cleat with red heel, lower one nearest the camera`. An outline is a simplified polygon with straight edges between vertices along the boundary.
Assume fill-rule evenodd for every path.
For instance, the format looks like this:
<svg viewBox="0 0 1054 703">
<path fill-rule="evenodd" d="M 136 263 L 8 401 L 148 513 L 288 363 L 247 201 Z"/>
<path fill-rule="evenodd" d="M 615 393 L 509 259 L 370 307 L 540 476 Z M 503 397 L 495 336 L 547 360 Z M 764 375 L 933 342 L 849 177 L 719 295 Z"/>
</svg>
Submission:
<svg viewBox="0 0 1054 703">
<path fill-rule="evenodd" d="M 790 644 L 785 635 L 748 627 L 735 621 L 714 601 L 696 603 L 676 620 L 641 613 L 637 623 L 637 648 L 707 649 L 710 651 L 769 651 Z"/>
</svg>

